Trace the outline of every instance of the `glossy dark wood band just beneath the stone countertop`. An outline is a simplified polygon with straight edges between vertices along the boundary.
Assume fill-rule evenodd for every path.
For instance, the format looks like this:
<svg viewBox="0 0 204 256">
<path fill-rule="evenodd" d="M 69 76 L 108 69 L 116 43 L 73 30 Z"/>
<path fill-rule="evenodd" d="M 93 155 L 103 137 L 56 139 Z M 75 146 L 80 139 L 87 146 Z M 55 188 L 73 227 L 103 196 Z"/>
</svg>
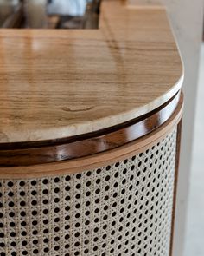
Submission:
<svg viewBox="0 0 204 256">
<path fill-rule="evenodd" d="M 176 110 L 180 92 L 160 108 L 137 120 L 99 132 L 56 141 L 4 143 L 0 145 L 0 167 L 18 167 L 65 161 L 118 148 L 150 134 L 168 121 Z"/>
</svg>

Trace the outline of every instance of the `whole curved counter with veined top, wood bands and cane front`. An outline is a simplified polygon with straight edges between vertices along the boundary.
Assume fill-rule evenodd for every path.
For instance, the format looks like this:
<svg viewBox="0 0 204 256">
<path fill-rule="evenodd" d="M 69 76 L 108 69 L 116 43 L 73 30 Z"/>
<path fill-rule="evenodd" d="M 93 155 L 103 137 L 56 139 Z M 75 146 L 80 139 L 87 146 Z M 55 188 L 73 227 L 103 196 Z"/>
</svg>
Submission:
<svg viewBox="0 0 204 256">
<path fill-rule="evenodd" d="M 181 57 L 162 6 L 0 30 L 1 255 L 169 256 Z"/>
</svg>

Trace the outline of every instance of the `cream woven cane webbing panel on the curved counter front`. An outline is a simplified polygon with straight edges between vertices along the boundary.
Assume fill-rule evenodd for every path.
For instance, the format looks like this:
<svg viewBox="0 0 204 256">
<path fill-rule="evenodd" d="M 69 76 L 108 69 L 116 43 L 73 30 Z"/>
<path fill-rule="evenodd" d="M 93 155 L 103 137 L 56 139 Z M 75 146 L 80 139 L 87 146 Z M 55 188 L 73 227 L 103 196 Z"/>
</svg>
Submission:
<svg viewBox="0 0 204 256">
<path fill-rule="evenodd" d="M 176 131 L 141 154 L 0 182 L 1 256 L 169 256 Z"/>
</svg>

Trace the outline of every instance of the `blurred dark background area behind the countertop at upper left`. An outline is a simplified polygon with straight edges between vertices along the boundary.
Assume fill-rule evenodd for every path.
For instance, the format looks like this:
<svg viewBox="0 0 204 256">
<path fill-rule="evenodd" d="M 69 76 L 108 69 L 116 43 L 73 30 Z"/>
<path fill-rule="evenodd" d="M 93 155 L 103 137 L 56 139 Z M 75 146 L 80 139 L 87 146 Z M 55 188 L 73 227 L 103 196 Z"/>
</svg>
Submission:
<svg viewBox="0 0 204 256">
<path fill-rule="evenodd" d="M 94 29 L 99 0 L 0 0 L 0 27 Z"/>
</svg>

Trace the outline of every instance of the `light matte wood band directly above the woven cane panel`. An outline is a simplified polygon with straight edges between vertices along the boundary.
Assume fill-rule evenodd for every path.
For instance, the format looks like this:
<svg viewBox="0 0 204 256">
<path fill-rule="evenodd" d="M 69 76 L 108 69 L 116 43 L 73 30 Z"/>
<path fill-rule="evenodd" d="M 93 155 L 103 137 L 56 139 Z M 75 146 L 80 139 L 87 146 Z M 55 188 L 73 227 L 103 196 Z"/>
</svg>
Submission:
<svg viewBox="0 0 204 256">
<path fill-rule="evenodd" d="M 54 176 L 62 174 L 74 174 L 85 170 L 104 166 L 106 163 L 120 161 L 133 154 L 150 148 L 157 141 L 161 141 L 171 130 L 173 130 L 182 118 L 183 95 L 175 108 L 174 113 L 161 126 L 151 133 L 144 135 L 137 140 L 124 144 L 112 150 L 106 150 L 99 154 L 92 154 L 78 159 L 67 161 L 55 161 L 47 164 L 38 164 L 22 167 L 0 167 L 0 178 L 2 179 L 27 179 L 35 177 Z"/>
</svg>

